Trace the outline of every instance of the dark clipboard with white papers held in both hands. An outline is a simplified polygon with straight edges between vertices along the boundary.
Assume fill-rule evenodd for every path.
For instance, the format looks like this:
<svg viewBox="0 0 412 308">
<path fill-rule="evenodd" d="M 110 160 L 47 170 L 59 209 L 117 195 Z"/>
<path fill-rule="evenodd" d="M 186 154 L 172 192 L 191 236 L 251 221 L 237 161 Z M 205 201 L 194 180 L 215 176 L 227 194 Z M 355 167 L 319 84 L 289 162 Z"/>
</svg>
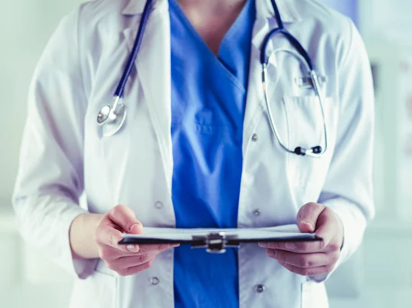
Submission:
<svg viewBox="0 0 412 308">
<path fill-rule="evenodd" d="M 122 234 L 120 245 L 128 244 L 189 244 L 207 252 L 221 254 L 226 248 L 238 248 L 242 243 L 321 241 L 316 233 L 300 233 L 297 225 L 269 228 L 144 228 L 140 235 Z"/>
</svg>

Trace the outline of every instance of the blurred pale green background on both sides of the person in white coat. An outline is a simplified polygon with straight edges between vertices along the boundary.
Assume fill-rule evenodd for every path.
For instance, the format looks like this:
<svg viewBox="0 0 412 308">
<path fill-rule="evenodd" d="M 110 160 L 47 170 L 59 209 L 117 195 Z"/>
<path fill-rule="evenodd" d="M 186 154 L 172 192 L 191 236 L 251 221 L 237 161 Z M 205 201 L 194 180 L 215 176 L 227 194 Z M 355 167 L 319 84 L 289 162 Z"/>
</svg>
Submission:
<svg viewBox="0 0 412 308">
<path fill-rule="evenodd" d="M 80 0 L 0 4 L 0 307 L 65 308 L 71 277 L 21 241 L 10 198 L 27 88 L 58 21 Z M 358 26 L 376 90 L 376 220 L 328 281 L 331 308 L 412 307 L 412 1 L 322 0 Z M 10 134 L 9 132 L 12 132 Z"/>
</svg>

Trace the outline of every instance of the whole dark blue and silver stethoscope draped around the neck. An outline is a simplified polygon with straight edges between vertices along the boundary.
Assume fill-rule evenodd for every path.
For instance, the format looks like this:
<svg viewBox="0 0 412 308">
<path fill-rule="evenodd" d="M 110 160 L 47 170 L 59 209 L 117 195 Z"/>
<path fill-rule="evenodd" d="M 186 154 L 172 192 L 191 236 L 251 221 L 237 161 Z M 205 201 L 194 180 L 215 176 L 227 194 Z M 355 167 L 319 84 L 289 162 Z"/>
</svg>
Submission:
<svg viewBox="0 0 412 308">
<path fill-rule="evenodd" d="M 146 5 L 144 6 L 144 11 L 141 16 L 141 22 L 139 25 L 139 29 L 137 31 L 135 44 L 133 45 L 132 52 L 130 54 L 130 57 L 128 58 L 126 69 L 124 70 L 122 78 L 120 79 L 119 84 L 116 88 L 113 103 L 111 105 L 104 106 L 99 111 L 98 125 L 102 126 L 102 134 L 104 137 L 113 136 L 124 126 L 124 121 L 126 120 L 127 110 L 126 110 L 126 106 L 124 106 L 124 104 L 120 104 L 119 102 L 120 102 L 120 99 L 122 99 L 123 97 L 126 82 L 130 76 L 130 72 L 133 69 L 133 64 L 137 58 L 137 53 L 139 52 L 139 48 L 141 45 L 141 39 L 144 36 L 144 29 L 146 28 L 146 24 L 148 22 L 148 16 L 150 14 L 150 8 L 152 6 L 152 1 L 153 0 L 147 0 Z M 314 71 L 312 60 L 308 52 L 304 49 L 304 47 L 302 47 L 302 45 L 295 38 L 295 36 L 290 34 L 290 32 L 288 32 L 285 29 L 284 23 L 279 14 L 279 10 L 277 8 L 275 0 L 271 0 L 271 3 L 273 5 L 273 10 L 275 12 L 278 27 L 276 29 L 273 29 L 271 32 L 269 32 L 266 35 L 266 37 L 264 38 L 264 42 L 262 44 L 262 49 L 260 51 L 260 63 L 262 64 L 262 70 L 263 70 L 262 71 L 262 84 L 263 84 L 263 90 L 264 90 L 264 100 L 266 104 L 266 109 L 268 111 L 269 122 L 271 124 L 271 130 L 273 134 L 275 135 L 275 139 L 277 140 L 279 145 L 286 152 L 297 154 L 299 156 L 311 156 L 311 157 L 319 158 L 323 156 L 323 154 L 325 154 L 326 150 L 328 149 L 328 138 L 327 138 L 327 132 L 326 132 L 325 113 L 323 112 L 323 99 L 322 99 L 322 95 L 320 91 L 319 79 L 317 77 L 317 73 Z M 266 80 L 268 80 L 268 75 L 267 75 L 268 74 L 267 73 L 268 56 L 266 55 L 266 48 L 268 46 L 269 41 L 274 36 L 277 36 L 278 34 L 282 34 L 285 38 L 287 38 L 290 44 L 292 44 L 293 47 L 297 49 L 299 54 L 304 57 L 304 59 L 306 60 L 306 63 L 308 64 L 310 80 L 312 82 L 312 87 L 314 88 L 314 92 L 319 99 L 319 105 L 321 108 L 321 114 L 323 118 L 323 137 L 325 139 L 324 147 L 321 147 L 321 145 L 316 145 L 314 147 L 310 147 L 309 149 L 306 149 L 304 147 L 296 147 L 295 149 L 290 150 L 288 147 L 286 147 L 286 145 L 284 145 L 284 143 L 279 138 L 279 134 L 273 122 L 273 115 L 271 112 L 271 108 L 269 107 L 268 89 L 266 87 Z"/>
</svg>

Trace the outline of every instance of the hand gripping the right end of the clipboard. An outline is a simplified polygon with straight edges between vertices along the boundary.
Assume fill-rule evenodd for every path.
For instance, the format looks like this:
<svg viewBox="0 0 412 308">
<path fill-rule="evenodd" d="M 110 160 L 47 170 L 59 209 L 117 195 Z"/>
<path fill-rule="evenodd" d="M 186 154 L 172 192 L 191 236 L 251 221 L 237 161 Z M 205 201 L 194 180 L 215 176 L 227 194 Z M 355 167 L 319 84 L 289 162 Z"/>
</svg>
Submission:
<svg viewBox="0 0 412 308">
<path fill-rule="evenodd" d="M 327 206 L 308 203 L 297 213 L 297 225 L 301 233 L 316 232 L 323 241 L 260 243 L 259 246 L 267 248 L 269 257 L 295 274 L 317 276 L 332 272 L 343 244 L 341 219 Z"/>
</svg>

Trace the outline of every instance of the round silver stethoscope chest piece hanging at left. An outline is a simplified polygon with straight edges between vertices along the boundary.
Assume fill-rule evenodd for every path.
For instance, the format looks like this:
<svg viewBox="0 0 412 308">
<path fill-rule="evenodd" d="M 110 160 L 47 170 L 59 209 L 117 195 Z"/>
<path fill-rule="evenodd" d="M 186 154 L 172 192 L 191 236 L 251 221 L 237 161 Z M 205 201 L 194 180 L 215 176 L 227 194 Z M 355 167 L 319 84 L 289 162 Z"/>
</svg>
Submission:
<svg viewBox="0 0 412 308">
<path fill-rule="evenodd" d="M 100 109 L 98 114 L 98 125 L 102 127 L 104 137 L 111 137 L 117 133 L 126 120 L 126 106 L 116 104 L 116 106 L 106 105 Z"/>
</svg>

